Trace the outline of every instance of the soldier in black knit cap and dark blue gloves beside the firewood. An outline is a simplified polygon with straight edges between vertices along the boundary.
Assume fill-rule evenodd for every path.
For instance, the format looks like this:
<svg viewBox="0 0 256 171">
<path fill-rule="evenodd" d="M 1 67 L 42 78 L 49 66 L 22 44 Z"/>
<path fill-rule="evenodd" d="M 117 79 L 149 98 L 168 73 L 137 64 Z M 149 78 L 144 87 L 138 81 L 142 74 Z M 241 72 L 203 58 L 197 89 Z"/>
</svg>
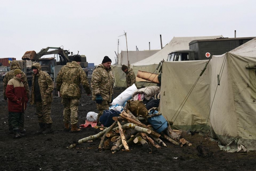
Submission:
<svg viewBox="0 0 256 171">
<path fill-rule="evenodd" d="M 100 124 L 99 117 L 103 114 L 103 111 L 108 110 L 110 103 L 113 102 L 114 76 L 110 67 L 111 62 L 111 59 L 105 56 L 102 64 L 96 66 L 92 74 L 92 99 L 96 100 L 97 110 L 99 111 L 98 124 Z"/>
</svg>

